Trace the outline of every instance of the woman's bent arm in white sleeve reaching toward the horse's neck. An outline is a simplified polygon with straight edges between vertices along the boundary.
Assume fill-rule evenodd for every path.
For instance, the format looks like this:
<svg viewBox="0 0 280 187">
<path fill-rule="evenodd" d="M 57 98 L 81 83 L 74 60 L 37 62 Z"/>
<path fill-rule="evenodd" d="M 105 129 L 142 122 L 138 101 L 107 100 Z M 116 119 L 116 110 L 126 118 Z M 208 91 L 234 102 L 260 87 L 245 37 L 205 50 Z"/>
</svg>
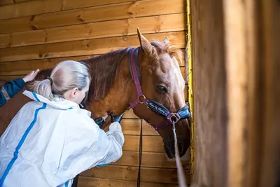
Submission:
<svg viewBox="0 0 280 187">
<path fill-rule="evenodd" d="M 125 137 L 118 121 L 111 123 L 109 131 L 104 132 L 87 117 L 77 118 L 78 123 L 67 124 L 65 144 L 60 158 L 57 177 L 72 179 L 77 174 L 97 165 L 116 162 L 123 155 Z M 59 176 L 60 175 L 60 176 Z"/>
</svg>

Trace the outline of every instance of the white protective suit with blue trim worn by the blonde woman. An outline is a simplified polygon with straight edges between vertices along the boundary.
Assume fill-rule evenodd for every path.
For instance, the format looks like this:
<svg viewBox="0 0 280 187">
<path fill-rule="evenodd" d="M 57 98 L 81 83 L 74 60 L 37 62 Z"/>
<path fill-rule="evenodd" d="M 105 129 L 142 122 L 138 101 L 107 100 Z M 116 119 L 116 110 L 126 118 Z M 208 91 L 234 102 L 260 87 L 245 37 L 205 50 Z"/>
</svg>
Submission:
<svg viewBox="0 0 280 187">
<path fill-rule="evenodd" d="M 108 132 L 90 111 L 66 99 L 34 92 L 0 138 L 0 187 L 69 186 L 81 172 L 116 162 L 123 154 L 120 123 Z"/>
</svg>

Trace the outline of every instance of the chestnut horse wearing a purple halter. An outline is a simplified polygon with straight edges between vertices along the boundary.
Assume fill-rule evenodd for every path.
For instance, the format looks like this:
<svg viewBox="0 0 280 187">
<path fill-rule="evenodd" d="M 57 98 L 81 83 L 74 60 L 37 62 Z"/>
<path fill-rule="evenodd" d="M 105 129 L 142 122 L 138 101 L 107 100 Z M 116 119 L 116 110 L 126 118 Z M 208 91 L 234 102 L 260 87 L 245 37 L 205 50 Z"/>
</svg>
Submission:
<svg viewBox="0 0 280 187">
<path fill-rule="evenodd" d="M 150 43 L 139 29 L 137 34 L 138 48 L 122 48 L 79 60 L 88 65 L 91 76 L 90 89 L 83 104 L 92 112 L 92 118 L 105 116 L 108 110 L 120 115 L 127 109 L 133 109 L 136 116 L 158 131 L 168 158 L 175 155 L 172 122 L 176 123 L 181 157 L 190 146 L 189 116 L 181 118 L 182 111 L 186 114 L 188 110 L 183 91 L 185 81 L 177 61 L 182 60 L 183 55 L 167 37 Z M 51 70 L 40 71 L 35 79 L 50 76 Z M 28 85 L 26 89 L 29 89 Z M 23 97 L 18 94 L 0 108 L 0 125 L 6 127 L 15 113 L 28 102 Z M 107 120 L 102 128 L 109 123 L 111 121 Z"/>
</svg>

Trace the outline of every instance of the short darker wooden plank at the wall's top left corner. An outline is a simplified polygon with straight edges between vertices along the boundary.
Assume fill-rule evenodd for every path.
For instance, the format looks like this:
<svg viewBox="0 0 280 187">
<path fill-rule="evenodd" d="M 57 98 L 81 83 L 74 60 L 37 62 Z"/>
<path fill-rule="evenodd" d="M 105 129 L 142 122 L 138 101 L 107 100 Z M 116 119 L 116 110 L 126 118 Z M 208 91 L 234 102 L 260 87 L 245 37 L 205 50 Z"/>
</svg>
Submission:
<svg viewBox="0 0 280 187">
<path fill-rule="evenodd" d="M 23 1 L 23 0 L 20 0 Z M 63 0 L 36 0 L 0 6 L 0 20 L 60 11 Z"/>
</svg>

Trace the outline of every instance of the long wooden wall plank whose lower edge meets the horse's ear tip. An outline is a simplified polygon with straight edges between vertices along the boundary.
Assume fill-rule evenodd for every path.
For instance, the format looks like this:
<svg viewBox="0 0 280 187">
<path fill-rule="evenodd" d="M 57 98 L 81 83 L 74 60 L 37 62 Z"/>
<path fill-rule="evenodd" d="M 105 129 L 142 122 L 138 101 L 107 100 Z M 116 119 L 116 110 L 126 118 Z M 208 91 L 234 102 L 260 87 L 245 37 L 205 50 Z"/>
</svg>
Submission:
<svg viewBox="0 0 280 187">
<path fill-rule="evenodd" d="M 3 34 L 0 35 L 0 48 L 112 36 L 130 36 L 137 34 L 137 27 L 141 29 L 142 34 L 183 31 L 186 29 L 185 17 L 185 14 L 179 13 Z"/>
</svg>

